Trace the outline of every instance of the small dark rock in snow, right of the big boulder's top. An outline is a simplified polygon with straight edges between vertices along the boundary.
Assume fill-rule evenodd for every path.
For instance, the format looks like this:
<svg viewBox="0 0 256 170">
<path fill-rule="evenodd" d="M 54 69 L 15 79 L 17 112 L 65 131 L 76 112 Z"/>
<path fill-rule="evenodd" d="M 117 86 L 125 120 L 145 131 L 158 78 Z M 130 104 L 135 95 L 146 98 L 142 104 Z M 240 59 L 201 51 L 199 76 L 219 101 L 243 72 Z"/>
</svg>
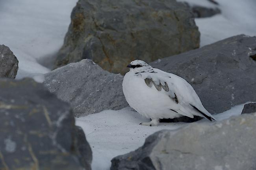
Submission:
<svg viewBox="0 0 256 170">
<path fill-rule="evenodd" d="M 202 7 L 202 6 L 193 6 L 191 7 L 191 10 L 195 18 L 205 18 L 205 17 L 210 17 L 210 16 L 221 13 L 221 10 L 217 7 L 208 8 L 208 7 Z"/>
</svg>

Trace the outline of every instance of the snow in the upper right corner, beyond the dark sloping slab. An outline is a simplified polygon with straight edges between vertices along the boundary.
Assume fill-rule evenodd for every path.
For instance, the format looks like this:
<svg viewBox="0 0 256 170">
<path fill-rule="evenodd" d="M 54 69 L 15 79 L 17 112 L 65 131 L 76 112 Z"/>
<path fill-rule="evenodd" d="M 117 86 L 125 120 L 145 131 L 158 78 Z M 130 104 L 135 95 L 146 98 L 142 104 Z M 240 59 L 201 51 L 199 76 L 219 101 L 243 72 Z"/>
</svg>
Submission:
<svg viewBox="0 0 256 170">
<path fill-rule="evenodd" d="M 208 8 L 218 7 L 221 14 L 208 18 L 195 18 L 200 31 L 200 46 L 212 44 L 234 35 L 256 35 L 256 0 L 215 0 L 219 5 L 208 0 L 178 0 L 191 6 Z"/>
</svg>

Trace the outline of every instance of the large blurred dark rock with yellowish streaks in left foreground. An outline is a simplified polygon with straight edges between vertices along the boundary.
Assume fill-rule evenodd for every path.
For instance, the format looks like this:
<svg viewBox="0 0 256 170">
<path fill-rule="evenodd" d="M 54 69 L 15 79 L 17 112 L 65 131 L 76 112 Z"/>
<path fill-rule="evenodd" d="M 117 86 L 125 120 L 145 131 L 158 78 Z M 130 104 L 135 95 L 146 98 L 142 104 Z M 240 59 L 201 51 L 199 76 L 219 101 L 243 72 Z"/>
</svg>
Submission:
<svg viewBox="0 0 256 170">
<path fill-rule="evenodd" d="M 32 79 L 0 80 L 1 170 L 91 170 L 69 104 Z"/>
</svg>

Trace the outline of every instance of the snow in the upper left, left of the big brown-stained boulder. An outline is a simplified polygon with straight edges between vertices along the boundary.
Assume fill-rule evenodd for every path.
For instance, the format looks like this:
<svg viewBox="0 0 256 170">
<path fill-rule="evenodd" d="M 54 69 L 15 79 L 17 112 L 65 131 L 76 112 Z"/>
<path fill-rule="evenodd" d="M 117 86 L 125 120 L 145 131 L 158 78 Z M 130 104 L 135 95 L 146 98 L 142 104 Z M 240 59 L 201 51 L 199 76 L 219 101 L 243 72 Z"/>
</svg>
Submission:
<svg viewBox="0 0 256 170">
<path fill-rule="evenodd" d="M 0 1 L 0 44 L 8 46 L 19 60 L 17 79 L 50 71 L 37 60 L 59 50 L 76 2 L 77 0 Z"/>
</svg>

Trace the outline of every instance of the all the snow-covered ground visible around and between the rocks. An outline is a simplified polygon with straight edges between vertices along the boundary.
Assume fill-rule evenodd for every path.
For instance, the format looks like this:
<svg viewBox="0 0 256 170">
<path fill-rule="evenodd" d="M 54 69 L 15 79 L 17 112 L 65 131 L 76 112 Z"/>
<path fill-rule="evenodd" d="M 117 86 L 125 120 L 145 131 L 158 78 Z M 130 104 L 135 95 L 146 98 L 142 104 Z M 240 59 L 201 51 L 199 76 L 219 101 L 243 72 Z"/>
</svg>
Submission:
<svg viewBox="0 0 256 170">
<path fill-rule="evenodd" d="M 63 44 L 70 23 L 70 13 L 77 0 L 2 0 L 0 1 L 0 44 L 9 46 L 19 60 L 17 79 L 40 76 L 50 71 L 39 64 L 52 56 Z M 215 7 L 207 0 L 179 0 L 189 4 Z M 256 35 L 256 0 L 216 0 L 220 15 L 197 18 L 201 46 L 238 34 Z M 47 59 L 48 60 L 48 59 Z M 215 117 L 225 119 L 239 115 L 243 105 Z M 141 126 L 146 122 L 130 108 L 106 110 L 76 119 L 93 149 L 93 170 L 108 170 L 110 160 L 141 146 L 145 138 L 162 129 L 176 129 L 187 123 L 161 123 Z M 198 123 L 209 123 L 201 120 Z"/>
</svg>

